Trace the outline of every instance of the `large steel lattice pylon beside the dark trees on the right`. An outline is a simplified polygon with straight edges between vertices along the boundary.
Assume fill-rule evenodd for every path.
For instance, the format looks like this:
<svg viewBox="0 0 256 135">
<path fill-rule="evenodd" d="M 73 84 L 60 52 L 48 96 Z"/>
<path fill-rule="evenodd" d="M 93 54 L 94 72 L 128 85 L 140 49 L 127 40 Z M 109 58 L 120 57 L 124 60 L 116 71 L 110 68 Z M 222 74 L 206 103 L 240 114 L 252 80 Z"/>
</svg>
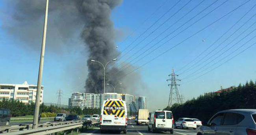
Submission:
<svg viewBox="0 0 256 135">
<path fill-rule="evenodd" d="M 169 74 L 169 76 L 171 76 L 171 78 L 167 79 L 166 81 L 171 81 L 171 84 L 168 85 L 168 86 L 171 86 L 170 94 L 169 94 L 169 102 L 168 102 L 168 106 L 171 107 L 173 105 L 173 99 L 176 100 L 178 104 L 182 104 L 182 99 L 180 97 L 180 93 L 178 90 L 178 86 L 180 85 L 177 84 L 176 82 L 181 80 L 176 79 L 176 76 L 178 75 L 174 73 L 174 69 L 172 70 L 172 74 Z M 176 96 L 176 97 L 173 97 L 173 96 Z"/>
</svg>

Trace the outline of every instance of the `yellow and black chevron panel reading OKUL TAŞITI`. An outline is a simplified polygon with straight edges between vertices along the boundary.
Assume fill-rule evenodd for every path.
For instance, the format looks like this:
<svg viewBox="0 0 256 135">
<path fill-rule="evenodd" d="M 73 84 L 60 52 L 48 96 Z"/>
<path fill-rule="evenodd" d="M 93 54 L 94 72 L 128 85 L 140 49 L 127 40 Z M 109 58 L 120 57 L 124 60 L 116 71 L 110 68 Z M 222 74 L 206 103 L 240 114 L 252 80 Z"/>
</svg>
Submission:
<svg viewBox="0 0 256 135">
<path fill-rule="evenodd" d="M 124 103 L 122 101 L 109 100 L 104 105 L 104 115 L 116 115 L 125 117 Z"/>
</svg>

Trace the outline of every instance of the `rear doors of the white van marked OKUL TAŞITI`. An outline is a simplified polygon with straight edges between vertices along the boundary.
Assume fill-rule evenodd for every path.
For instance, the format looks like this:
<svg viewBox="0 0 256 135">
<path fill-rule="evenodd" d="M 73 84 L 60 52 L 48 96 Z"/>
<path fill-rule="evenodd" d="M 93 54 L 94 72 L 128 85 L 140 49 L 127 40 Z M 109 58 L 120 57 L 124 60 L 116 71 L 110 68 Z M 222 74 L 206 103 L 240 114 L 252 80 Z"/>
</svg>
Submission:
<svg viewBox="0 0 256 135">
<path fill-rule="evenodd" d="M 121 100 L 108 100 L 104 104 L 102 115 L 103 125 L 125 125 L 126 112 Z"/>
</svg>

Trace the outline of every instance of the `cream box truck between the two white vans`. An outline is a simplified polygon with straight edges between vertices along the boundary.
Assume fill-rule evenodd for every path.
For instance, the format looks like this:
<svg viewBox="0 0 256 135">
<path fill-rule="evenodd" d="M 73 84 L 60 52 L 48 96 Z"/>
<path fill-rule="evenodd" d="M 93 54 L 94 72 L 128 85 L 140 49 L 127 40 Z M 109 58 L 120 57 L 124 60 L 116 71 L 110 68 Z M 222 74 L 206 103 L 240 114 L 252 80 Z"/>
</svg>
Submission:
<svg viewBox="0 0 256 135">
<path fill-rule="evenodd" d="M 148 125 L 149 111 L 148 109 L 139 109 L 136 118 L 137 125 Z"/>
</svg>

